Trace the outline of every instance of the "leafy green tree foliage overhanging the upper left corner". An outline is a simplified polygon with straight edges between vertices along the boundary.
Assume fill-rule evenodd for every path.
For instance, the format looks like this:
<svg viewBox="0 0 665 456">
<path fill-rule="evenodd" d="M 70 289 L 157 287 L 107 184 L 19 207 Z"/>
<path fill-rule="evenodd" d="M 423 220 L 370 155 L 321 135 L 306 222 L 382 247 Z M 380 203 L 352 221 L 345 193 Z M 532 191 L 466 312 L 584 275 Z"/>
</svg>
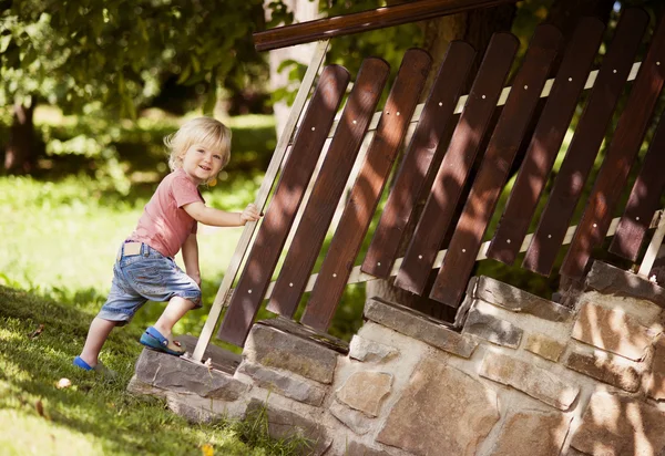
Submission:
<svg viewBox="0 0 665 456">
<path fill-rule="evenodd" d="M 37 96 L 135 117 L 177 74 L 200 85 L 211 112 L 218 85 L 265 65 L 250 41 L 263 27 L 260 0 L 12 1 L 0 20 L 0 105 Z"/>
</svg>

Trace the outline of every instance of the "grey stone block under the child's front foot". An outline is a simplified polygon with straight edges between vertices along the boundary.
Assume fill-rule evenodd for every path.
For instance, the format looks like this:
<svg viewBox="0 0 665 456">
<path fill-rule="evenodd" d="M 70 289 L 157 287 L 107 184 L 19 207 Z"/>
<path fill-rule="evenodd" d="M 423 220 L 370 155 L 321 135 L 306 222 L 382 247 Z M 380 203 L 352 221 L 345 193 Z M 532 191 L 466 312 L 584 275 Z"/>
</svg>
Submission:
<svg viewBox="0 0 665 456">
<path fill-rule="evenodd" d="M 166 391 L 223 401 L 236 401 L 248 388 L 226 373 L 147 349 L 136 362 L 136 380 Z"/>
</svg>

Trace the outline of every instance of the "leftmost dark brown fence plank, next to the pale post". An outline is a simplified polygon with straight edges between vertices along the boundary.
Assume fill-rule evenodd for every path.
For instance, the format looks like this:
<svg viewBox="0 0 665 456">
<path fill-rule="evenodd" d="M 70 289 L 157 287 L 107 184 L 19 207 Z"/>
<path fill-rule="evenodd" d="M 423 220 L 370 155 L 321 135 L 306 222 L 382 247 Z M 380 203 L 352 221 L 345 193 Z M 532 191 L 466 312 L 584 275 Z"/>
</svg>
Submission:
<svg viewBox="0 0 665 456">
<path fill-rule="evenodd" d="M 224 315 L 217 334 L 219 339 L 236 345 L 245 343 L 349 79 L 348 71 L 338 65 L 326 66 L 321 72 L 238 287 Z"/>
</svg>

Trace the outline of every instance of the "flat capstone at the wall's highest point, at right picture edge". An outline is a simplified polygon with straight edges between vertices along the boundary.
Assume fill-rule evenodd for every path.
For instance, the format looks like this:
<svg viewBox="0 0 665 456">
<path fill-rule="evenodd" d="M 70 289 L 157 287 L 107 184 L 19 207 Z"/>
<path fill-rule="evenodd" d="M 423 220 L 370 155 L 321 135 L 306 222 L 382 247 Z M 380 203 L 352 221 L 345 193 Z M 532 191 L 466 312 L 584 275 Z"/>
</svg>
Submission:
<svg viewBox="0 0 665 456">
<path fill-rule="evenodd" d="M 664 288 L 602 261 L 593 262 L 586 276 L 586 287 L 605 294 L 644 299 L 665 309 Z"/>
</svg>

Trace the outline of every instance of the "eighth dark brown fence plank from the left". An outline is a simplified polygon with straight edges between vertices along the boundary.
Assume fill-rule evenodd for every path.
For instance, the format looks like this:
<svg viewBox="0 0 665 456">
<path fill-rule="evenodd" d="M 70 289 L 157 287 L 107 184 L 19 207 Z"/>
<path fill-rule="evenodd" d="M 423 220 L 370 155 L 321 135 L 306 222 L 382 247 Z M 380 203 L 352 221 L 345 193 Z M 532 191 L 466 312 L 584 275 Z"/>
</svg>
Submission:
<svg viewBox="0 0 665 456">
<path fill-rule="evenodd" d="M 642 9 L 628 9 L 622 14 L 526 250 L 523 268 L 550 274 L 647 24 L 648 14 Z"/>
</svg>

